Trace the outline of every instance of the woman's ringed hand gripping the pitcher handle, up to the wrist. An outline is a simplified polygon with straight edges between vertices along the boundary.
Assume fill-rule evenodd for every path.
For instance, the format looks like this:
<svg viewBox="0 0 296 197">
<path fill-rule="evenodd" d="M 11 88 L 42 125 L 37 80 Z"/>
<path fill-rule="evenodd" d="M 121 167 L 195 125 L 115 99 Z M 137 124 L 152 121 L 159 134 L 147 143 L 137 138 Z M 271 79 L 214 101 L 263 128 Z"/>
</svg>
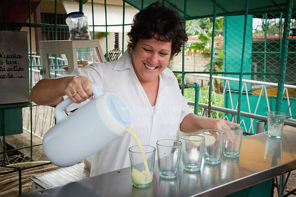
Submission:
<svg viewBox="0 0 296 197">
<path fill-rule="evenodd" d="M 93 95 L 91 83 L 85 76 L 71 77 L 65 83 L 65 94 L 73 103 L 81 103 Z"/>
</svg>

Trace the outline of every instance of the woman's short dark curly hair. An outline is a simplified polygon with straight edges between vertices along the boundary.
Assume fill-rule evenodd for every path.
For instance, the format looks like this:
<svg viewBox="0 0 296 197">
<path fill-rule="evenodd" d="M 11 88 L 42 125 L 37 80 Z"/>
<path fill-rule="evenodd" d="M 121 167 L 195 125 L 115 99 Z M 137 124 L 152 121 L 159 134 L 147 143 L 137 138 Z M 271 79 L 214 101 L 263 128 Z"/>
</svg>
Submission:
<svg viewBox="0 0 296 197">
<path fill-rule="evenodd" d="M 188 37 L 184 30 L 184 21 L 176 6 L 173 5 L 172 8 L 165 7 L 157 1 L 134 15 L 132 29 L 128 33 L 128 48 L 131 52 L 139 39 L 153 37 L 159 41 L 172 42 L 170 59 L 178 55 Z"/>
</svg>

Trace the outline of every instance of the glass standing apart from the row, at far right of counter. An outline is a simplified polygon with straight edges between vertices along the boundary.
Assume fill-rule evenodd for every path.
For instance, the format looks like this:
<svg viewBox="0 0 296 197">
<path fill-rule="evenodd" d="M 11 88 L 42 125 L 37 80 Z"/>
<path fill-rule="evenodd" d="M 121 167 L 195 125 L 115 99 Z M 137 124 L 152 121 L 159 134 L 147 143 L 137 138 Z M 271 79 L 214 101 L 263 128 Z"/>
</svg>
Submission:
<svg viewBox="0 0 296 197">
<path fill-rule="evenodd" d="M 267 112 L 267 130 L 269 137 L 280 138 L 284 130 L 285 113 L 280 111 Z"/>
</svg>

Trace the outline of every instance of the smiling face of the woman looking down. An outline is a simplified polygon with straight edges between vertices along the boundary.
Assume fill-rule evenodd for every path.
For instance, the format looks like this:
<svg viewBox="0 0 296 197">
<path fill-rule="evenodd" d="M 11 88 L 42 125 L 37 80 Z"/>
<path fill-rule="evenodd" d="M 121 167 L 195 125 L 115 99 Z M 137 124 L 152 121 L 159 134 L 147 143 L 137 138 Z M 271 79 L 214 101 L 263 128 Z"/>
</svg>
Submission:
<svg viewBox="0 0 296 197">
<path fill-rule="evenodd" d="M 155 38 L 140 39 L 132 52 L 132 66 L 140 82 L 158 80 L 171 55 L 172 43 Z"/>
</svg>

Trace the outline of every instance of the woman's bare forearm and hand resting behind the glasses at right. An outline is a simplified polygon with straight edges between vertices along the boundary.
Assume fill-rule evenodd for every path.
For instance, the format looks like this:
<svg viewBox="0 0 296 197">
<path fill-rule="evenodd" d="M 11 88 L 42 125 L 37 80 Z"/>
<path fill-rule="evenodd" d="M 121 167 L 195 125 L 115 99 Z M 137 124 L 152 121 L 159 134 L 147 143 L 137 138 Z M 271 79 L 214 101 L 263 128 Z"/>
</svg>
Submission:
<svg viewBox="0 0 296 197">
<path fill-rule="evenodd" d="M 184 133 L 197 133 L 202 129 L 221 129 L 224 125 L 239 124 L 222 119 L 213 119 L 207 117 L 197 116 L 194 113 L 187 114 L 180 124 L 180 130 Z"/>
</svg>

